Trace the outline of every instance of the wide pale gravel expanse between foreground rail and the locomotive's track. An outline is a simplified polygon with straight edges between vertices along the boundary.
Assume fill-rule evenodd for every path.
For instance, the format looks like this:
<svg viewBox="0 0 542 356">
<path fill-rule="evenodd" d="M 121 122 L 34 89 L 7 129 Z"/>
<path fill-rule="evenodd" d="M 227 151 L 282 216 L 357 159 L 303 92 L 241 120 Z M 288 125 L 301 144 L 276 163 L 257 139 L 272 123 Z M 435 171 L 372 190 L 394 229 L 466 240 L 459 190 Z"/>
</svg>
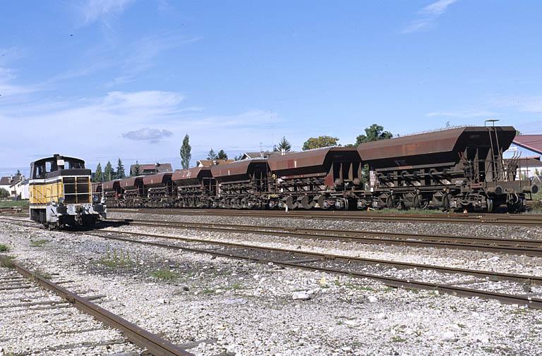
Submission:
<svg viewBox="0 0 542 356">
<path fill-rule="evenodd" d="M 542 345 L 542 312 L 493 300 L 7 223 L 0 243 L 196 355 L 539 355 Z M 429 252 L 417 251 L 418 262 Z"/>
</svg>

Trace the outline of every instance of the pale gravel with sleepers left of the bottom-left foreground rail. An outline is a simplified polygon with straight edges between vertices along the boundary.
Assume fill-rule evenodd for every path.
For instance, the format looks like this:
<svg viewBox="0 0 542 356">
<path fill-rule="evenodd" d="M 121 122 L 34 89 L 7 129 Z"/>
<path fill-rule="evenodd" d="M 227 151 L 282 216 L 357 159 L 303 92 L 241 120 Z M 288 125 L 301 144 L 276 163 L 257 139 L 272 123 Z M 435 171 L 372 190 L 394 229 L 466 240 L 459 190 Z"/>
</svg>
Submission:
<svg viewBox="0 0 542 356">
<path fill-rule="evenodd" d="M 139 354 L 140 349 L 125 343 L 121 333 L 70 307 L 54 293 L 27 279 L 10 278 L 18 276 L 13 270 L 0 267 L 0 288 L 4 288 L 0 290 L 0 355 Z M 59 278 L 54 277 L 60 281 Z M 21 285 L 30 288 L 7 289 Z M 121 344 L 83 346 L 83 343 L 108 341 Z M 73 347 L 63 349 L 66 345 Z"/>
</svg>

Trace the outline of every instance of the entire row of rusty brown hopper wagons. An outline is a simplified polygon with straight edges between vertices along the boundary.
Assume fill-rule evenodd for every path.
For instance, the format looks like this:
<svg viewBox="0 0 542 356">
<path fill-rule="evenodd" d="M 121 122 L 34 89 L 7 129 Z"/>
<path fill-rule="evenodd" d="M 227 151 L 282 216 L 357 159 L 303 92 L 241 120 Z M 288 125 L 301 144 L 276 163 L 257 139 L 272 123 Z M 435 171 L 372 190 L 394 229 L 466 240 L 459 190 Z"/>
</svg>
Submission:
<svg viewBox="0 0 542 356">
<path fill-rule="evenodd" d="M 109 207 L 525 209 L 511 126 L 461 127 L 103 183 Z"/>
</svg>

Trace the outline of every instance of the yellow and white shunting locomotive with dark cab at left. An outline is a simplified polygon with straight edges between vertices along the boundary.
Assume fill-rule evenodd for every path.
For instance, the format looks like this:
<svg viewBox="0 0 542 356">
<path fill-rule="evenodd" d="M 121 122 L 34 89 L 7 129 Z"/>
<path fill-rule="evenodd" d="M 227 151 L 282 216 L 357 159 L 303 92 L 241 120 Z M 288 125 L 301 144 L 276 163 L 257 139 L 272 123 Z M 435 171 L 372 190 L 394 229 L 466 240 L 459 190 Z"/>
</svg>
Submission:
<svg viewBox="0 0 542 356">
<path fill-rule="evenodd" d="M 90 226 L 105 218 L 100 195 L 92 195 L 85 161 L 55 154 L 30 164 L 30 219 L 47 226 Z"/>
</svg>

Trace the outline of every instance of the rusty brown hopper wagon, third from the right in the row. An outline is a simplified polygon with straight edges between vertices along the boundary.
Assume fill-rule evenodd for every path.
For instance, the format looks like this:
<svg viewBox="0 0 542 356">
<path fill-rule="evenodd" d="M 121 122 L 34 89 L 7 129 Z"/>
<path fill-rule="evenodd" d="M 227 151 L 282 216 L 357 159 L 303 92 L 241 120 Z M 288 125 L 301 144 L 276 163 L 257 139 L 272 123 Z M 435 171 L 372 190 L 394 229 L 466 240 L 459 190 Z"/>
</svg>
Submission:
<svg viewBox="0 0 542 356">
<path fill-rule="evenodd" d="M 263 208 L 269 200 L 267 159 L 243 159 L 211 167 L 217 200 L 225 208 Z"/>
</svg>

